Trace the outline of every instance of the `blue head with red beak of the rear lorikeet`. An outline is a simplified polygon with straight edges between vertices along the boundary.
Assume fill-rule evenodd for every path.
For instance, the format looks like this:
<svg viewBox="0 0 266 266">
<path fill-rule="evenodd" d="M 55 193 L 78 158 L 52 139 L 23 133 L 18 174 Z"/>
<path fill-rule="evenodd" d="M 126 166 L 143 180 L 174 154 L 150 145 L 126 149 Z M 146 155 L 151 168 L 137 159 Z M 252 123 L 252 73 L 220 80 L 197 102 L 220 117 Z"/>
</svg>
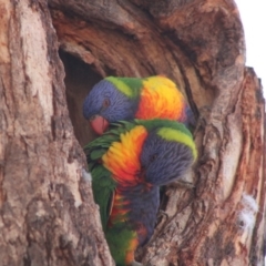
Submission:
<svg viewBox="0 0 266 266">
<path fill-rule="evenodd" d="M 137 101 L 135 99 L 129 98 L 121 90 L 117 90 L 112 82 L 104 79 L 96 83 L 85 98 L 83 115 L 92 122 L 93 127 L 95 119 L 99 121 L 99 117 L 101 117 L 101 123 L 106 124 L 120 120 L 132 120 L 136 109 Z M 93 129 L 101 134 L 103 125 L 99 126 L 99 132 Z"/>
</svg>

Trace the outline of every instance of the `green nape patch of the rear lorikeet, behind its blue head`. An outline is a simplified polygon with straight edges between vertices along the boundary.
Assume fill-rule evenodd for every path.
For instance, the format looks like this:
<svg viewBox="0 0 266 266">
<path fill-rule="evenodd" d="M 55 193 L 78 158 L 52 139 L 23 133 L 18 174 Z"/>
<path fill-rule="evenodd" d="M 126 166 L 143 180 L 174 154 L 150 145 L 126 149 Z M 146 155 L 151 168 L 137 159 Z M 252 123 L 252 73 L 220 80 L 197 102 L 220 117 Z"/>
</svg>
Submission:
<svg viewBox="0 0 266 266">
<path fill-rule="evenodd" d="M 108 76 L 105 80 L 110 81 L 120 92 L 131 99 L 139 98 L 143 86 L 142 79 L 139 78 Z"/>
</svg>

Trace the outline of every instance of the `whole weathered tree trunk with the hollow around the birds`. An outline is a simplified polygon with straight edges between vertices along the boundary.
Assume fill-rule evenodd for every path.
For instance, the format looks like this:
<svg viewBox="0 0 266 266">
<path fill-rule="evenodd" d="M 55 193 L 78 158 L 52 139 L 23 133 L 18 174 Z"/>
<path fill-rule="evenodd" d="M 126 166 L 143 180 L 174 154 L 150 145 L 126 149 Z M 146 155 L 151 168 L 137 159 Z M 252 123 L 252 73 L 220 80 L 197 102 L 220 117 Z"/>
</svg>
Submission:
<svg viewBox="0 0 266 266">
<path fill-rule="evenodd" d="M 103 76 L 152 74 L 187 96 L 200 156 L 193 187 L 168 186 L 139 260 L 263 265 L 265 105 L 233 0 L 49 0 L 70 114 L 45 1 L 0 7 L 3 265 L 112 264 L 73 132 L 95 137 L 81 106 Z"/>
</svg>

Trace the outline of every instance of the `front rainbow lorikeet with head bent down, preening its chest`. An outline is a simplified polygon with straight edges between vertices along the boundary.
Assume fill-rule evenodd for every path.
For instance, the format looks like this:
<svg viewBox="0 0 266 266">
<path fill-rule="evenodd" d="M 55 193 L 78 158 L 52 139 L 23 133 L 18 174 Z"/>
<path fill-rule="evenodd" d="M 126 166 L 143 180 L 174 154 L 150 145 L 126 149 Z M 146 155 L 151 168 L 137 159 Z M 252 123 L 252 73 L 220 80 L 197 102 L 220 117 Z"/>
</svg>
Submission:
<svg viewBox="0 0 266 266">
<path fill-rule="evenodd" d="M 132 265 L 136 247 L 153 234 L 160 186 L 197 156 L 192 134 L 170 120 L 122 121 L 84 150 L 111 254 L 116 265 Z"/>
</svg>

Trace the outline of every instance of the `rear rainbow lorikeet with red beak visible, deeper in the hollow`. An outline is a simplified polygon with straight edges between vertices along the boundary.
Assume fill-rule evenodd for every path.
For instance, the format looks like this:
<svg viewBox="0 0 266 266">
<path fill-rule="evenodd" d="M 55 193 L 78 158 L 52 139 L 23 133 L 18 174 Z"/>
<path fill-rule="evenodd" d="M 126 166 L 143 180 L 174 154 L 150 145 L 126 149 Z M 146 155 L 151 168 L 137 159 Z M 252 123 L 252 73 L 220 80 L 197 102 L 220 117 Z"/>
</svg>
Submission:
<svg viewBox="0 0 266 266">
<path fill-rule="evenodd" d="M 108 76 L 85 98 L 83 115 L 102 134 L 110 123 L 121 120 L 168 119 L 195 124 L 185 98 L 170 79 Z"/>
</svg>

